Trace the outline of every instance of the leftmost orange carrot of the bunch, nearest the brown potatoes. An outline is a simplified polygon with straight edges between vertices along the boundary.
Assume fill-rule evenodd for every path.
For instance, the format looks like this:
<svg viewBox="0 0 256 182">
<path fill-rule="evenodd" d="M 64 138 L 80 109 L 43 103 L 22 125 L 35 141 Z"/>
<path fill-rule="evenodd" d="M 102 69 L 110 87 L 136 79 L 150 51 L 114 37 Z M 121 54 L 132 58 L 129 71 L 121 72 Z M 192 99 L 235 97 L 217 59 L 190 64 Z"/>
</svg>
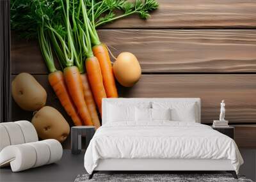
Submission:
<svg viewBox="0 0 256 182">
<path fill-rule="evenodd" d="M 74 125 L 81 126 L 82 121 L 76 111 L 76 106 L 72 102 L 70 95 L 68 94 L 67 86 L 65 85 L 65 80 L 63 73 L 61 71 L 52 72 L 48 76 L 48 80 L 54 90 L 56 96 L 58 96 L 61 105 L 66 110 L 68 116 L 72 118 Z"/>
</svg>

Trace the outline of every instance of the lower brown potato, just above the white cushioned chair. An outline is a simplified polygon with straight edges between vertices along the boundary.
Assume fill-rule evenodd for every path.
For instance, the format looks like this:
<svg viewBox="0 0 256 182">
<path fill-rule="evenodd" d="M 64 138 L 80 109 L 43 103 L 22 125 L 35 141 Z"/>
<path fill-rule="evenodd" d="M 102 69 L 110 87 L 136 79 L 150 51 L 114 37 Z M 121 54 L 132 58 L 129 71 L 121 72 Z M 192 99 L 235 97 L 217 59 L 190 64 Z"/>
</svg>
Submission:
<svg viewBox="0 0 256 182">
<path fill-rule="evenodd" d="M 40 139 L 56 139 L 63 142 L 70 132 L 66 119 L 53 107 L 45 106 L 38 110 L 31 122 Z"/>
</svg>

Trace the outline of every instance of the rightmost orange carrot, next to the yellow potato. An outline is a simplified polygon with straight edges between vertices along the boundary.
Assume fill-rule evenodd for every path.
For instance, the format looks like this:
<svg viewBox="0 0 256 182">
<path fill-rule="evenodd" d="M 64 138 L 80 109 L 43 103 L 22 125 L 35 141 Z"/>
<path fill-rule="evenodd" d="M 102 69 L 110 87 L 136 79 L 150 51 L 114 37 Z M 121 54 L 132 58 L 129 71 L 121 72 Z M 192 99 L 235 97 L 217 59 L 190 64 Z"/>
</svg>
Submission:
<svg viewBox="0 0 256 182">
<path fill-rule="evenodd" d="M 118 94 L 116 90 L 115 78 L 106 45 L 104 45 L 104 43 L 100 43 L 99 45 L 93 46 L 92 50 L 93 55 L 97 57 L 100 63 L 100 70 L 107 97 L 117 98 Z"/>
</svg>

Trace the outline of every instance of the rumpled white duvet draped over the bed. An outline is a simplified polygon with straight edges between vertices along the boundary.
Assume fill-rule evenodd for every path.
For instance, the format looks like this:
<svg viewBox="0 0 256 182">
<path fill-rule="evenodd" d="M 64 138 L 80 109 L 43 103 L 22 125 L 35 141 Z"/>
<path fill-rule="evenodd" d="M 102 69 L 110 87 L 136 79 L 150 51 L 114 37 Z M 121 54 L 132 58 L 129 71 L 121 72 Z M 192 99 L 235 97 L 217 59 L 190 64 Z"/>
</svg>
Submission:
<svg viewBox="0 0 256 182">
<path fill-rule="evenodd" d="M 99 159 L 106 158 L 229 159 L 237 173 L 243 164 L 230 137 L 207 125 L 176 121 L 106 123 L 86 150 L 86 171 L 92 174 Z"/>
</svg>

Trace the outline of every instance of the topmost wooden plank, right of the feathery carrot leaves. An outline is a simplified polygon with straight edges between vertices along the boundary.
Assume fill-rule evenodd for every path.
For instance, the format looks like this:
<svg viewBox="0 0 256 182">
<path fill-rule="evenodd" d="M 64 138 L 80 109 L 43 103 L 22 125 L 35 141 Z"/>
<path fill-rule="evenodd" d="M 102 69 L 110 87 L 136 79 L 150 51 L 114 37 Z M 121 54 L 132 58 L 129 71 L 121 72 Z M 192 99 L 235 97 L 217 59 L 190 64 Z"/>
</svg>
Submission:
<svg viewBox="0 0 256 182">
<path fill-rule="evenodd" d="M 158 0 L 148 20 L 137 15 L 103 28 L 255 28 L 254 0 Z"/>
</svg>

